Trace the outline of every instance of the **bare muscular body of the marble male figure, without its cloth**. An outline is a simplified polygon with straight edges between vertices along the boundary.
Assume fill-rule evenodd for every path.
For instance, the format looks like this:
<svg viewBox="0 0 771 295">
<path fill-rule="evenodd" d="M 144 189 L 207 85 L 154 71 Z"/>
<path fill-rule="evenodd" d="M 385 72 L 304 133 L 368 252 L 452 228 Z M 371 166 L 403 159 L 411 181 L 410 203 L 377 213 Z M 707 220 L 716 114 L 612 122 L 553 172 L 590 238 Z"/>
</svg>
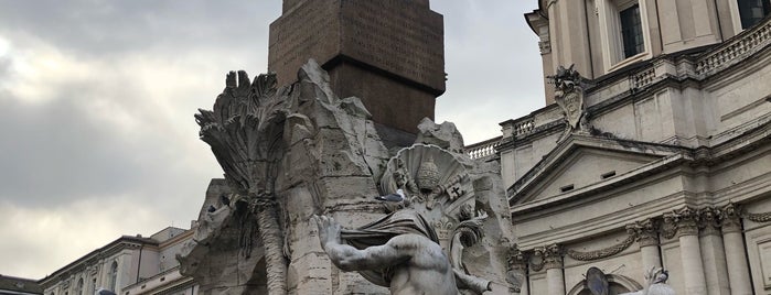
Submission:
<svg viewBox="0 0 771 295">
<path fill-rule="evenodd" d="M 385 244 L 360 250 L 342 243 L 341 227 L 334 219 L 314 219 L 321 248 L 334 265 L 345 272 L 383 270 L 388 274 L 390 294 L 457 295 L 459 287 L 478 293 L 491 287 L 486 281 L 453 270 L 441 247 L 425 236 L 403 233 Z"/>
</svg>

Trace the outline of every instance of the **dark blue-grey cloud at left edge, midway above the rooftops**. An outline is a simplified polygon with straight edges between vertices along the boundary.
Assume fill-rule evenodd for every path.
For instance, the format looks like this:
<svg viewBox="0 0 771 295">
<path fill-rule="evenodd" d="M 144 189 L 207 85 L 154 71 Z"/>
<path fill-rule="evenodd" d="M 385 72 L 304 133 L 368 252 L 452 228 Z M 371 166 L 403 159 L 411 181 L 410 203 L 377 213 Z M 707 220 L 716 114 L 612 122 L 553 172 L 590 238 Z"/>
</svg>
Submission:
<svg viewBox="0 0 771 295">
<path fill-rule="evenodd" d="M 63 96 L 83 95 L 77 88 L 58 90 Z M 82 105 L 69 99 L 32 107 L 14 99 L 0 102 L 6 113 L 0 116 L 0 194 L 42 206 L 141 184 L 148 171 L 127 151 L 131 139 L 113 134 Z"/>
</svg>

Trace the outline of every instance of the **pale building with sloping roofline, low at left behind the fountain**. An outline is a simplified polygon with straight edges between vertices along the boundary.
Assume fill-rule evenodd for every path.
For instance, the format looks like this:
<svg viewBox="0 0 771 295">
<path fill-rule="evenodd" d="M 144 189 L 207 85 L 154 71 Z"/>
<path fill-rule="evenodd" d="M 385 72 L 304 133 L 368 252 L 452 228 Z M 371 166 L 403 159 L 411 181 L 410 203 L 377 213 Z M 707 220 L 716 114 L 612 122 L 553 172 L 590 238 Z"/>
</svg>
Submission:
<svg viewBox="0 0 771 295">
<path fill-rule="evenodd" d="M 183 277 L 175 255 L 195 230 L 168 227 L 149 238 L 122 236 L 40 280 L 45 295 L 94 294 L 98 288 L 120 295 L 197 294 Z"/>
</svg>

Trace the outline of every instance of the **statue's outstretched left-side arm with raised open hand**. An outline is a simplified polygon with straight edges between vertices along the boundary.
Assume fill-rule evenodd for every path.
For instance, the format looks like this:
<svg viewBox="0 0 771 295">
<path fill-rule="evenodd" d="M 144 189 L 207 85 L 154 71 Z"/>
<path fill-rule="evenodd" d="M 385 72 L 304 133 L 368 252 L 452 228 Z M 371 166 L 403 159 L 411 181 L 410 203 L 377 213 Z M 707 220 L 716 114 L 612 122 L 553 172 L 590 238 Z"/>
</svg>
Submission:
<svg viewBox="0 0 771 295">
<path fill-rule="evenodd" d="M 319 241 L 321 248 L 332 260 L 332 263 L 345 272 L 384 269 L 385 266 L 401 263 L 409 259 L 411 251 L 397 251 L 392 244 L 368 247 L 358 250 L 342 243 L 340 239 L 340 225 L 333 218 L 314 216 L 319 226 Z"/>
</svg>

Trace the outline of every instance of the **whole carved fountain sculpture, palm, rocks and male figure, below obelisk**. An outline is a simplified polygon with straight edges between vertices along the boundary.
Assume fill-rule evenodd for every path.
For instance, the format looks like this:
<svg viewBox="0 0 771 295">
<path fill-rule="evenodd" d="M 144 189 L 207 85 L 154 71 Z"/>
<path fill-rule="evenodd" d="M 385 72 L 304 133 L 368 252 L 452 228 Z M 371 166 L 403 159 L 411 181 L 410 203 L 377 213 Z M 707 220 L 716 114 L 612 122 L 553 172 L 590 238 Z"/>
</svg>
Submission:
<svg viewBox="0 0 771 295">
<path fill-rule="evenodd" d="M 361 99 L 339 98 L 329 80 L 312 59 L 280 88 L 271 74 L 226 75 L 195 117 L 225 177 L 206 190 L 180 272 L 202 294 L 505 294 L 502 241 L 515 237 L 497 163 L 471 160 L 451 123 L 428 119 L 419 142 L 389 151 Z M 308 234 L 320 212 L 366 225 L 321 228 L 334 263 Z M 406 245 L 381 251 L 389 263 L 372 270 L 349 263 Z"/>
</svg>

